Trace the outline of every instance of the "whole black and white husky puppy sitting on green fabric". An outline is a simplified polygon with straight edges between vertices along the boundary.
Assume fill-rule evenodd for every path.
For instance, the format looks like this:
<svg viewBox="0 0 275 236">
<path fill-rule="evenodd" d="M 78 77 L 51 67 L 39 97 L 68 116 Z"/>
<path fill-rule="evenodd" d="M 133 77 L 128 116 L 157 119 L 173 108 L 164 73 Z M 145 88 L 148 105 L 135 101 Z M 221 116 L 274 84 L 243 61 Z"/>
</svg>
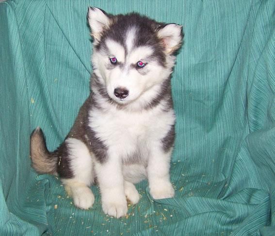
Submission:
<svg viewBox="0 0 275 236">
<path fill-rule="evenodd" d="M 59 175 L 74 204 L 93 206 L 97 181 L 102 209 L 116 218 L 137 204 L 134 184 L 147 178 L 154 199 L 171 198 L 170 159 L 175 139 L 171 73 L 182 26 L 136 13 L 88 9 L 93 37 L 91 93 L 65 141 L 53 152 L 42 130 L 31 135 L 32 166 Z"/>
</svg>

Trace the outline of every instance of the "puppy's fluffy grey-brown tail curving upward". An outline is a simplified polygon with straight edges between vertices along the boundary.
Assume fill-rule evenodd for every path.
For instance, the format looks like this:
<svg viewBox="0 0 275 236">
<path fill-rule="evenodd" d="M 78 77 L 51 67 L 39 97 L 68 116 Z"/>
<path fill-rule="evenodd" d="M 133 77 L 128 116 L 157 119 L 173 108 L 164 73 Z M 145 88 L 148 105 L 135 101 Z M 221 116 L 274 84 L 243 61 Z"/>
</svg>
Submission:
<svg viewBox="0 0 275 236">
<path fill-rule="evenodd" d="M 40 127 L 32 131 L 31 159 L 32 167 L 37 173 L 57 173 L 57 158 L 47 149 L 45 137 Z"/>
</svg>

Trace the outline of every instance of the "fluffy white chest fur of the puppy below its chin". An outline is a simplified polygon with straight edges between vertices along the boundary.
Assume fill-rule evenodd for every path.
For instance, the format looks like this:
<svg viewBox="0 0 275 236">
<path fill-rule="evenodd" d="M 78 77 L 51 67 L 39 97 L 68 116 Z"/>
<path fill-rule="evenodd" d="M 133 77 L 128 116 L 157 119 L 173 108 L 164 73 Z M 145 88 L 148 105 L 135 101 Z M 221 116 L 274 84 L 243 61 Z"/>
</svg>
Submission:
<svg viewBox="0 0 275 236">
<path fill-rule="evenodd" d="M 89 126 L 97 133 L 97 138 L 104 142 L 111 156 L 124 161 L 137 153 L 145 160 L 150 146 L 161 142 L 174 121 L 173 110 L 167 112 L 161 107 L 141 112 L 116 108 L 89 112 Z"/>
</svg>

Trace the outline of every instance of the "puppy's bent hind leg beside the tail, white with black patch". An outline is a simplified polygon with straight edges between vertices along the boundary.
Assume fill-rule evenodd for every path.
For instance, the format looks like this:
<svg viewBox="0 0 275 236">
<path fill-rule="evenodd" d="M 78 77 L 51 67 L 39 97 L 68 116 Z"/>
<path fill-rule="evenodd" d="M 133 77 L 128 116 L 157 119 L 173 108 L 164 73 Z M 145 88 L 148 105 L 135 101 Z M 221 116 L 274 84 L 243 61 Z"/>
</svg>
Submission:
<svg viewBox="0 0 275 236">
<path fill-rule="evenodd" d="M 81 209 L 88 209 L 95 202 L 94 194 L 89 188 L 94 182 L 91 154 L 85 143 L 75 138 L 66 139 L 61 147 L 65 155 L 65 159 L 63 160 L 60 156 L 58 162 L 61 181 L 67 193 L 73 198 L 74 205 Z M 64 167 L 69 169 L 69 174 L 63 173 Z"/>
</svg>

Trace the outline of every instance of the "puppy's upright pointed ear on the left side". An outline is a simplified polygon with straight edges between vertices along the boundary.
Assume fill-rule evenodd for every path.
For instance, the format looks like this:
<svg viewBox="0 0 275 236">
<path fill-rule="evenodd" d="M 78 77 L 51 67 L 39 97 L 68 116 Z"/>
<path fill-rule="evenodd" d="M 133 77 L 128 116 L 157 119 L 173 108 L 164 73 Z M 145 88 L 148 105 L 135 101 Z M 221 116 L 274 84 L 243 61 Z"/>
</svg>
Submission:
<svg viewBox="0 0 275 236">
<path fill-rule="evenodd" d="M 88 8 L 87 18 L 92 31 L 92 37 L 95 41 L 99 41 L 101 32 L 111 24 L 111 18 L 106 12 L 97 7 Z"/>
</svg>

